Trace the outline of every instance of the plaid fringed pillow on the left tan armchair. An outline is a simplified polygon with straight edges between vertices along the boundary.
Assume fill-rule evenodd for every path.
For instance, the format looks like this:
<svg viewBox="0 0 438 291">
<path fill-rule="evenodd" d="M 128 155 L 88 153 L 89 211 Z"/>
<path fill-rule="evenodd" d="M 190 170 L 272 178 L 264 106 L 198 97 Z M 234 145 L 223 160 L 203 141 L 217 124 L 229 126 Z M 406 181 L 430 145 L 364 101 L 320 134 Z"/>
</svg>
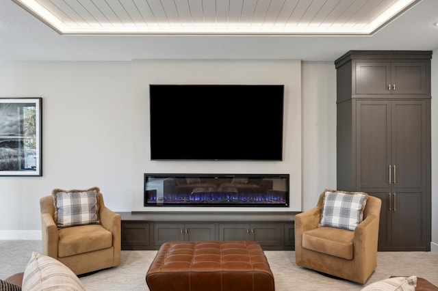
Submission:
<svg viewBox="0 0 438 291">
<path fill-rule="evenodd" d="M 53 191 L 57 227 L 98 223 L 99 189 Z"/>
</svg>

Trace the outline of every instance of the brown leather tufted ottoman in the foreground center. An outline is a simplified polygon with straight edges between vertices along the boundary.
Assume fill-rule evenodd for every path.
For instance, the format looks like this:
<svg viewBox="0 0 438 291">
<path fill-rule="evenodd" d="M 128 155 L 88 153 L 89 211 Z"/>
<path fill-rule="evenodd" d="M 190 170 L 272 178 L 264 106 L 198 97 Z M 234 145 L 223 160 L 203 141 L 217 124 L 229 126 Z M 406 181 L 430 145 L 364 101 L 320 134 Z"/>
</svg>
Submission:
<svg viewBox="0 0 438 291">
<path fill-rule="evenodd" d="M 260 245 L 250 241 L 164 243 L 149 271 L 151 291 L 274 291 Z"/>
</svg>

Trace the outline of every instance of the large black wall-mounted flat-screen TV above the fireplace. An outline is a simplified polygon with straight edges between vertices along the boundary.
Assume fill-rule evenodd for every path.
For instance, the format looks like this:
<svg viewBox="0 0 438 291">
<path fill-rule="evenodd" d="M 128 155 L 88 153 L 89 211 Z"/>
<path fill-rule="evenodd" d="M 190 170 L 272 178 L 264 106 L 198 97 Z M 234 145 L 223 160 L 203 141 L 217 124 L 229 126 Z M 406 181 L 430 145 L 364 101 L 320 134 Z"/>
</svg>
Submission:
<svg viewBox="0 0 438 291">
<path fill-rule="evenodd" d="M 152 160 L 282 160 L 284 85 L 149 90 Z"/>
</svg>

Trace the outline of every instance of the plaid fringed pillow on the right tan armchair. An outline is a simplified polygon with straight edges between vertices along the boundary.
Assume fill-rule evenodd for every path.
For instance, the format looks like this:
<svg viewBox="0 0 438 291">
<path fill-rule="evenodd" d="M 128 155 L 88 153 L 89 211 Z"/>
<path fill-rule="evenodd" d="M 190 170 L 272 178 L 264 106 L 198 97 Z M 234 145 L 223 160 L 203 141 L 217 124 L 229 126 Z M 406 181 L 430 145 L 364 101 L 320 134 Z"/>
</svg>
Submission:
<svg viewBox="0 0 438 291">
<path fill-rule="evenodd" d="M 324 208 L 318 226 L 355 230 L 363 220 L 366 204 L 365 193 L 339 193 L 327 191 L 324 195 Z"/>
</svg>

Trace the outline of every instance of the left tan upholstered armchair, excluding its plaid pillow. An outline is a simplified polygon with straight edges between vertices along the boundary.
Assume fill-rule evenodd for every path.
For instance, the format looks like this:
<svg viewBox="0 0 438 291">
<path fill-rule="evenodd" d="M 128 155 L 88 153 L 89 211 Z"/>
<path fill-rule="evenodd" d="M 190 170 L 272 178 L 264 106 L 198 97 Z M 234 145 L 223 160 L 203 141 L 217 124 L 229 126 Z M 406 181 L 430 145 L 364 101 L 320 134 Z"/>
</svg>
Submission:
<svg viewBox="0 0 438 291">
<path fill-rule="evenodd" d="M 93 209 L 98 222 L 92 224 L 57 227 L 56 196 L 40 199 L 42 253 L 59 260 L 76 275 L 120 265 L 120 214 L 105 207 L 99 188 L 85 191 L 90 190 L 97 204 Z"/>
</svg>

